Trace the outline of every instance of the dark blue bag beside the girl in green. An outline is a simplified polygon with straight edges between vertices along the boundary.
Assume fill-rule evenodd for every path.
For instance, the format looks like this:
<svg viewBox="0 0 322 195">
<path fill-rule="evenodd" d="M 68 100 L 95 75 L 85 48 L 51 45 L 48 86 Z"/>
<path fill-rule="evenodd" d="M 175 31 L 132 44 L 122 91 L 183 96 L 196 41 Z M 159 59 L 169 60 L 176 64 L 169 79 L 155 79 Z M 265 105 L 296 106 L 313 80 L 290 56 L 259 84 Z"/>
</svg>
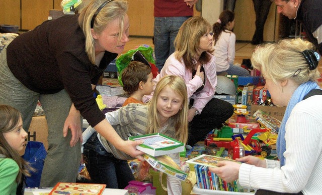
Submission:
<svg viewBox="0 0 322 195">
<path fill-rule="evenodd" d="M 47 151 L 42 142 L 28 141 L 25 154 L 22 157 L 24 158 L 24 160 L 29 162 L 36 171 L 32 172 L 30 177 L 26 177 L 27 187 L 39 187 L 40 177 L 42 169 L 44 167 L 46 155 Z"/>
</svg>

